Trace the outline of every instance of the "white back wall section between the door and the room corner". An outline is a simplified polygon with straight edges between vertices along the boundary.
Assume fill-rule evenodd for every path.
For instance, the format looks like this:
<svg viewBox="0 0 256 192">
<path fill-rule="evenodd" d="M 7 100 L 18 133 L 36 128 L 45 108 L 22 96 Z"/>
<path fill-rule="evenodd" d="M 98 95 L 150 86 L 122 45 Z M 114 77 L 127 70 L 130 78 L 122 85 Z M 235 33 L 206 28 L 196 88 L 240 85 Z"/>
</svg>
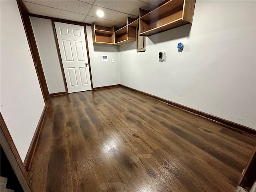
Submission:
<svg viewBox="0 0 256 192">
<path fill-rule="evenodd" d="M 120 84 L 118 46 L 93 44 L 90 26 L 86 26 L 86 33 L 93 87 Z M 108 61 L 102 61 L 102 55 L 108 55 Z"/>
</svg>

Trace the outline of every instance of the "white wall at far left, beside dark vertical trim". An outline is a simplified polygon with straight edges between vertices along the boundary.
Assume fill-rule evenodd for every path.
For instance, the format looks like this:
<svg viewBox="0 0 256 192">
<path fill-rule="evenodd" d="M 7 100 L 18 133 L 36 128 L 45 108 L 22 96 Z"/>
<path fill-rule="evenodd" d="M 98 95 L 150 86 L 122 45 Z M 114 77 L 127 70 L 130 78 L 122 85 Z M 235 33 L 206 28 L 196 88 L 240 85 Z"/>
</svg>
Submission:
<svg viewBox="0 0 256 192">
<path fill-rule="evenodd" d="M 16 1 L 1 1 L 1 114 L 24 161 L 44 99 Z"/>
</svg>

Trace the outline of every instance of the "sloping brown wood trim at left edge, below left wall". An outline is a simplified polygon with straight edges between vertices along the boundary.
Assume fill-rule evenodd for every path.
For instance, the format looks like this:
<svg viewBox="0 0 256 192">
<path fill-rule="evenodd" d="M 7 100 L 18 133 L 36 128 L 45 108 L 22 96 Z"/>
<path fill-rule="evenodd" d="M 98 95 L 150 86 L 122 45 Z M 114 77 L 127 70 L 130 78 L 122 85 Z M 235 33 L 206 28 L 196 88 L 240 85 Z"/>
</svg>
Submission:
<svg viewBox="0 0 256 192">
<path fill-rule="evenodd" d="M 24 167 L 24 164 L 22 163 L 22 160 L 20 158 L 20 155 L 18 153 L 18 150 L 12 140 L 12 136 L 4 122 L 4 118 L 2 116 L 2 114 L 0 114 L 1 116 L 1 121 L 0 121 L 0 124 L 1 124 L 1 130 L 2 130 L 2 133 L 4 134 L 4 137 L 6 138 L 7 142 L 8 142 L 8 145 L 10 146 L 10 149 L 12 150 L 12 153 L 14 155 L 14 158 L 16 159 L 17 163 L 18 163 L 18 166 L 20 167 L 20 170 L 22 172 L 22 174 L 25 176 L 26 174 L 26 169 Z"/>
</svg>

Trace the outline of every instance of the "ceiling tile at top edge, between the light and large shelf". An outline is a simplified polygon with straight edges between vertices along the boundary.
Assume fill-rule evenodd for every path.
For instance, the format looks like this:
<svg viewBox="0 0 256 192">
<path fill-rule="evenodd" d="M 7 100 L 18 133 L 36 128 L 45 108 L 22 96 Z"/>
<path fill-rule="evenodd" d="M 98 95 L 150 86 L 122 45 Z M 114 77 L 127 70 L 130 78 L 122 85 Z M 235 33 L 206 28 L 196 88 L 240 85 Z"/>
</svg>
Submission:
<svg viewBox="0 0 256 192">
<path fill-rule="evenodd" d="M 125 1 L 97 0 L 95 1 L 94 5 L 120 11 L 126 14 L 132 14 L 134 16 L 139 15 L 139 8 L 149 10 L 154 7 L 153 5 L 147 4 L 145 2 L 135 1 L 135 0 L 125 0 Z"/>
</svg>

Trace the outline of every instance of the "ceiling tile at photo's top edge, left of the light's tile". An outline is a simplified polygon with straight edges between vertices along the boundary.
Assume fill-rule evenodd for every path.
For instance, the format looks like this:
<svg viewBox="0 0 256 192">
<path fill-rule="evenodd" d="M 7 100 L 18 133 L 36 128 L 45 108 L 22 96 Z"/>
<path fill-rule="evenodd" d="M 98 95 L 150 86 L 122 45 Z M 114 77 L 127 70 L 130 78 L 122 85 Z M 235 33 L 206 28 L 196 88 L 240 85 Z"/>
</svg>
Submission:
<svg viewBox="0 0 256 192">
<path fill-rule="evenodd" d="M 26 1 L 26 2 L 31 2 L 35 4 L 40 4 L 52 8 L 58 8 L 70 12 L 75 12 L 75 13 L 80 13 L 86 15 L 88 11 L 91 8 L 91 4 L 87 4 L 81 1 L 63 1 L 63 0 L 49 0 L 49 1 L 42 1 L 42 0 L 31 0 L 31 1 Z"/>
</svg>

